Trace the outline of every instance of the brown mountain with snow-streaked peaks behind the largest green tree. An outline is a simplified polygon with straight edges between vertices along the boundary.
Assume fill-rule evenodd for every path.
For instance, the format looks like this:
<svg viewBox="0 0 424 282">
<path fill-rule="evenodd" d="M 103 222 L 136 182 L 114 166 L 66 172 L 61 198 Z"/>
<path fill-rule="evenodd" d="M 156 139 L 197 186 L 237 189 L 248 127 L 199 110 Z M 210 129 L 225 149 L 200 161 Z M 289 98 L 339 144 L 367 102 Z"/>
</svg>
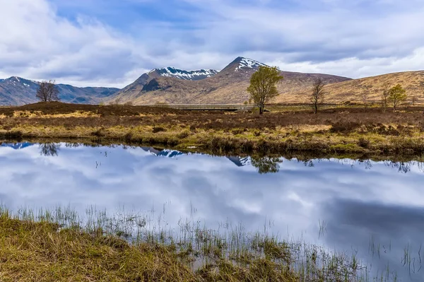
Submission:
<svg viewBox="0 0 424 282">
<path fill-rule="evenodd" d="M 155 69 L 143 74 L 134 83 L 107 99 L 110 103 L 134 105 L 167 102 L 170 104 L 238 104 L 249 99 L 247 87 L 252 74 L 259 66 L 265 64 L 244 57 L 237 57 L 222 71 L 202 76 L 199 79 L 182 79 L 170 75 L 174 69 Z M 169 72 L 168 72 L 169 71 Z M 177 71 L 182 73 L 183 71 Z M 166 76 L 164 74 L 167 74 Z M 169 75 L 168 75 L 169 74 Z M 278 86 L 281 95 L 298 93 L 310 88 L 315 78 L 322 78 L 324 83 L 348 81 L 351 78 L 327 74 L 301 74 L 283 71 L 285 79 Z"/>
</svg>

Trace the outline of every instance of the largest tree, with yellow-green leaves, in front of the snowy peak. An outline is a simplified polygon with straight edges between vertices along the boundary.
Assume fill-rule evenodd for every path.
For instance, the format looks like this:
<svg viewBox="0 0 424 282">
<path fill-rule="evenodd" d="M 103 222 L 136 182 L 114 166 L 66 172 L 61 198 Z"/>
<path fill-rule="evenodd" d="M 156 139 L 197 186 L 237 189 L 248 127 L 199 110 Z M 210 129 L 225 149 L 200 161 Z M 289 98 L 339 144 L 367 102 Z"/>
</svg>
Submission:
<svg viewBox="0 0 424 282">
<path fill-rule="evenodd" d="M 263 114 L 265 105 L 278 96 L 276 83 L 282 79 L 283 76 L 276 66 L 259 66 L 258 71 L 252 74 L 247 92 L 250 93 L 254 105 L 259 107 L 259 114 Z"/>
</svg>

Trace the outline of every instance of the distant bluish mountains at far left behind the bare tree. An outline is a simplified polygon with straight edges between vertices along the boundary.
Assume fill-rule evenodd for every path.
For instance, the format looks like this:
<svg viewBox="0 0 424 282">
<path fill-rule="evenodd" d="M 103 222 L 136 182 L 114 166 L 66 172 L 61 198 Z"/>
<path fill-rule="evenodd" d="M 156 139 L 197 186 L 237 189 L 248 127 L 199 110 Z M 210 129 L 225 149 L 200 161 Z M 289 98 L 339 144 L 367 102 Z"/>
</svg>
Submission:
<svg viewBox="0 0 424 282">
<path fill-rule="evenodd" d="M 116 93 L 118 88 L 84 87 L 57 84 L 59 98 L 62 102 L 77 104 L 98 104 Z M 38 82 L 12 76 L 0 80 L 0 105 L 24 105 L 37 102 Z"/>
</svg>

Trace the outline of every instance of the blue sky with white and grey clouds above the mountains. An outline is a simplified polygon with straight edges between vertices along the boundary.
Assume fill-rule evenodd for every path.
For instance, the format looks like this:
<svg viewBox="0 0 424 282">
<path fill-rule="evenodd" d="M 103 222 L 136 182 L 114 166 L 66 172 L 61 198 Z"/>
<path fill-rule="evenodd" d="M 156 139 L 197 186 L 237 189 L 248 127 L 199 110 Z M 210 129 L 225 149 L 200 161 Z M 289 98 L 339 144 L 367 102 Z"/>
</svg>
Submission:
<svg viewBox="0 0 424 282">
<path fill-rule="evenodd" d="M 0 0 L 0 78 L 125 86 L 238 56 L 359 78 L 424 69 L 422 0 Z"/>
</svg>

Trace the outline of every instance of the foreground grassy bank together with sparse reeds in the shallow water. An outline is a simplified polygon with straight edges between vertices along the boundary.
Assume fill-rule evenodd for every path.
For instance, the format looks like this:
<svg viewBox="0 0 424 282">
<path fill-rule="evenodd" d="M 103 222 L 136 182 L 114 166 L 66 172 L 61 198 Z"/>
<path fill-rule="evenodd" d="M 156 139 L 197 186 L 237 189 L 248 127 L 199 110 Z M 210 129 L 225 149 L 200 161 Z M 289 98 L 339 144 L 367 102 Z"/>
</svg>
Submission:
<svg viewBox="0 0 424 282">
<path fill-rule="evenodd" d="M 73 211 L 0 214 L 1 281 L 372 281 L 355 254 L 290 242 L 242 226 L 219 233 L 181 221 Z M 94 217 L 93 217 L 94 216 Z M 223 228 L 225 229 L 225 228 Z M 389 272 L 387 273 L 389 274 Z M 396 281 L 390 274 L 381 281 Z M 380 281 L 380 280 L 379 280 Z"/>
</svg>

